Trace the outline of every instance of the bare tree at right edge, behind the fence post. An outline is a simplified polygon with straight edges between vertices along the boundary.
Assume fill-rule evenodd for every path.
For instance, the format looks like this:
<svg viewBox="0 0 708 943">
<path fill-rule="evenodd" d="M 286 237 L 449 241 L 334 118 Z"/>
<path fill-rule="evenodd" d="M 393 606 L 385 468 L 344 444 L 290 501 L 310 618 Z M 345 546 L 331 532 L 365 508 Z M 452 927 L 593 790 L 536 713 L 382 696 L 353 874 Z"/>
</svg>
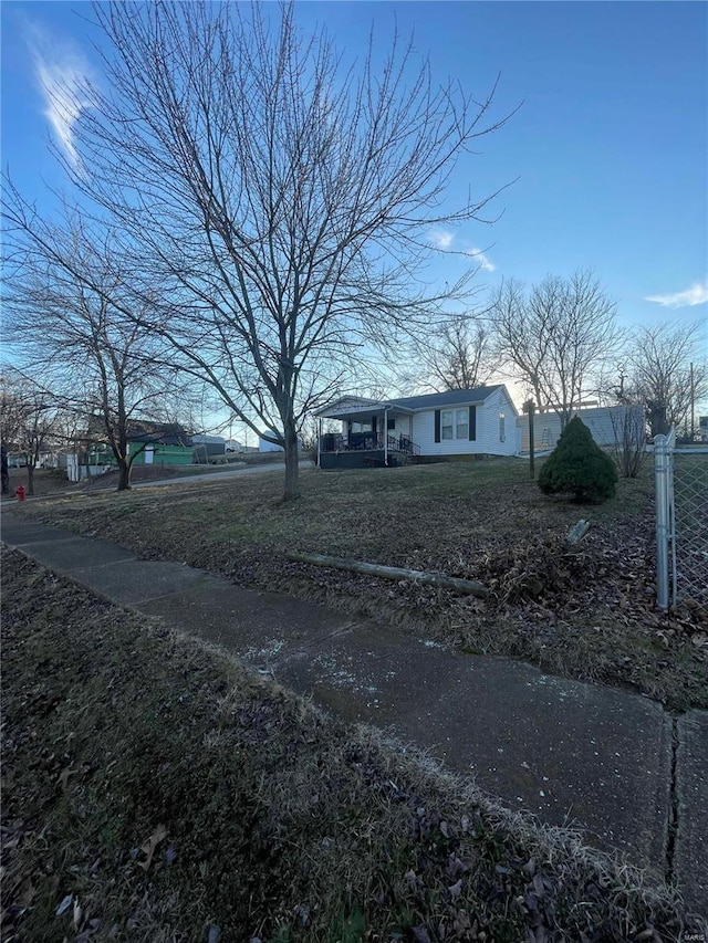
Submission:
<svg viewBox="0 0 708 943">
<path fill-rule="evenodd" d="M 670 427 L 693 433 L 695 407 L 708 398 L 706 326 L 662 324 L 632 335 L 617 396 L 643 402 L 652 436 Z"/>
</svg>

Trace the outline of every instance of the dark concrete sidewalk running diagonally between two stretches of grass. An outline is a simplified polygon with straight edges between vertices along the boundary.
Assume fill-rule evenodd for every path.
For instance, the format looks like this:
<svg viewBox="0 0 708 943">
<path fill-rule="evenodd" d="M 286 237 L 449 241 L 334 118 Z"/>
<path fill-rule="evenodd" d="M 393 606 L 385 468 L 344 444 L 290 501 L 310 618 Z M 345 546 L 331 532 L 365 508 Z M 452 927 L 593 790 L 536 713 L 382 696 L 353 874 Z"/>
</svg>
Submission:
<svg viewBox="0 0 708 943">
<path fill-rule="evenodd" d="M 2 538 L 118 605 L 395 731 L 514 809 L 676 879 L 708 914 L 708 712 L 549 677 L 3 513 Z"/>
</svg>

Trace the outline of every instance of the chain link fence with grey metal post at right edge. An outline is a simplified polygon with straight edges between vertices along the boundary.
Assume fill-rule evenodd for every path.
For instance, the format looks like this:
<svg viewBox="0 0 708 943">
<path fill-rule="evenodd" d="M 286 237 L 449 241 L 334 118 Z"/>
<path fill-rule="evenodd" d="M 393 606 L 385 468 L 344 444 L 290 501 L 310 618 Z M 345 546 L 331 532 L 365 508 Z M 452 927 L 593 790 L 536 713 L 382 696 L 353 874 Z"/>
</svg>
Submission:
<svg viewBox="0 0 708 943">
<path fill-rule="evenodd" d="M 677 447 L 674 429 L 654 440 L 656 599 L 708 609 L 708 447 Z"/>
</svg>

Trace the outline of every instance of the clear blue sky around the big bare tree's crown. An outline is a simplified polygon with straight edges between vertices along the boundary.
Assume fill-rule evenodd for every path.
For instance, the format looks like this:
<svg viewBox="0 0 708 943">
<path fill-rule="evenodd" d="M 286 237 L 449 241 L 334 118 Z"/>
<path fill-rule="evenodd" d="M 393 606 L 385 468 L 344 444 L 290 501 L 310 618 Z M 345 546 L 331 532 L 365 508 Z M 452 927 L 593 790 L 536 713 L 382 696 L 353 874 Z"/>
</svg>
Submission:
<svg viewBox="0 0 708 943">
<path fill-rule="evenodd" d="M 2 164 L 40 206 L 66 181 L 49 138 L 71 150 L 71 122 L 46 86 L 101 82 L 88 4 L 13 2 L 2 15 Z M 708 313 L 708 6 L 699 2 L 301 2 L 362 55 L 415 31 L 433 74 L 482 97 L 501 73 L 494 117 L 519 103 L 479 155 L 458 166 L 450 199 L 498 198 L 492 227 L 431 233 L 481 250 L 478 281 L 533 282 L 592 268 L 623 324 L 694 323 Z M 53 123 L 52 119 L 53 118 Z M 517 179 L 518 178 L 518 179 Z M 461 260 L 439 264 L 454 281 Z"/>
</svg>

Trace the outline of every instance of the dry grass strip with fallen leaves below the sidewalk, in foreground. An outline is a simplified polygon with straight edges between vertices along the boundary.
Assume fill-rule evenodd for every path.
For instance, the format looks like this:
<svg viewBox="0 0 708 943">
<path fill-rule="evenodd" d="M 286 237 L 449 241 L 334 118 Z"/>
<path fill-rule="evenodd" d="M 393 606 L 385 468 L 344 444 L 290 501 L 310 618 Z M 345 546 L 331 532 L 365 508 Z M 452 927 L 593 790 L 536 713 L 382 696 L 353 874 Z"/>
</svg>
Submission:
<svg viewBox="0 0 708 943">
<path fill-rule="evenodd" d="M 7 943 L 689 929 L 620 859 L 20 554 L 3 563 Z"/>
</svg>

